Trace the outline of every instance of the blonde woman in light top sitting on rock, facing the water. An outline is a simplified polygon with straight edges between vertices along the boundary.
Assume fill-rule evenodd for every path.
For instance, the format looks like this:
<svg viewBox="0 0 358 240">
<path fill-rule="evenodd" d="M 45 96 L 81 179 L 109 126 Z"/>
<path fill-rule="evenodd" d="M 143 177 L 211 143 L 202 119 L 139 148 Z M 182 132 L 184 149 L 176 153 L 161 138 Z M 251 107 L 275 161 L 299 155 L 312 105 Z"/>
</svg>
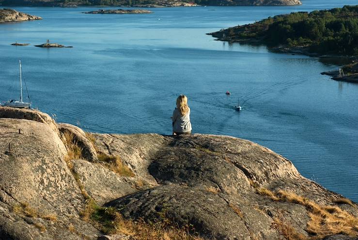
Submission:
<svg viewBox="0 0 358 240">
<path fill-rule="evenodd" d="M 191 134 L 190 108 L 187 105 L 187 96 L 178 96 L 176 108 L 171 118 L 173 120 L 173 135 Z"/>
</svg>

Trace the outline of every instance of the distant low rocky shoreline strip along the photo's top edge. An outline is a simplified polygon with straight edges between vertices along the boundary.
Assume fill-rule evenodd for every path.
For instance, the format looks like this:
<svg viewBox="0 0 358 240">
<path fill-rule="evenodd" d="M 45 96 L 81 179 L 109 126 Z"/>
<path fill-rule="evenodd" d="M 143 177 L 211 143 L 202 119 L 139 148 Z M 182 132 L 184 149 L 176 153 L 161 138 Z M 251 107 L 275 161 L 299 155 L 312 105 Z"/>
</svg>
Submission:
<svg viewBox="0 0 358 240">
<path fill-rule="evenodd" d="M 131 6 L 131 7 L 179 7 L 179 6 L 238 6 L 238 5 L 299 5 L 300 0 L 0 0 L 4 6 Z"/>
</svg>

